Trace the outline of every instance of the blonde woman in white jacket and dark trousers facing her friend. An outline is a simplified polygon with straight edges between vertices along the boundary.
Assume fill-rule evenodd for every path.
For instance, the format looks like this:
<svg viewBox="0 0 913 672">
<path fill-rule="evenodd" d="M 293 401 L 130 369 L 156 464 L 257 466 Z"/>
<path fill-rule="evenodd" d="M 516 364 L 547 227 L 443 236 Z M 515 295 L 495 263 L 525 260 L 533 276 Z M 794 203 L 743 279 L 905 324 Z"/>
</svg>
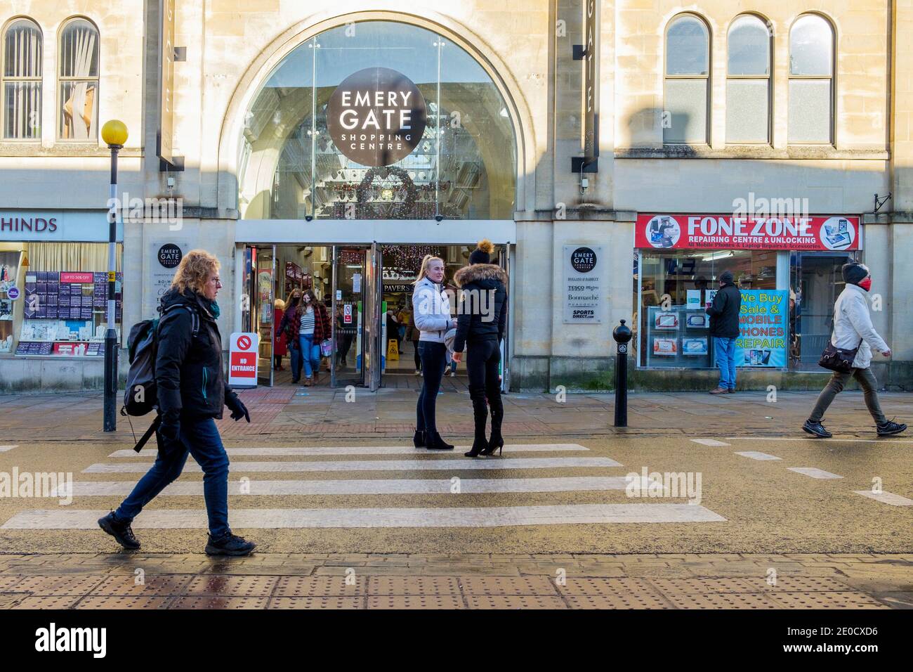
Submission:
<svg viewBox="0 0 913 672">
<path fill-rule="evenodd" d="M 422 359 L 422 391 L 415 408 L 413 443 L 416 448 L 425 446 L 431 450 L 454 448 L 437 433 L 435 418 L 437 392 L 441 389 L 447 364 L 444 335 L 456 326 L 456 319 L 450 317 L 450 298 L 444 291 L 443 282 L 444 260 L 425 255 L 412 293 L 412 311 L 419 330 L 418 354 Z"/>
</svg>

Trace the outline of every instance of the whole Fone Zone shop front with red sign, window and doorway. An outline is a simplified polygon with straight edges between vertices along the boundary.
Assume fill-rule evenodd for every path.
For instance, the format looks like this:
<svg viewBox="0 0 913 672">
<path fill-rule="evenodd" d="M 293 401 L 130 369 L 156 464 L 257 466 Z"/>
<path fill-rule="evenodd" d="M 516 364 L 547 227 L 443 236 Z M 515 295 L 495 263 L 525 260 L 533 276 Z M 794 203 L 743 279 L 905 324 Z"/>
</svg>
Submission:
<svg viewBox="0 0 913 672">
<path fill-rule="evenodd" d="M 636 361 L 716 365 L 705 308 L 732 272 L 740 288 L 736 366 L 821 370 L 841 267 L 858 258 L 858 216 L 641 214 L 635 224 Z"/>
</svg>

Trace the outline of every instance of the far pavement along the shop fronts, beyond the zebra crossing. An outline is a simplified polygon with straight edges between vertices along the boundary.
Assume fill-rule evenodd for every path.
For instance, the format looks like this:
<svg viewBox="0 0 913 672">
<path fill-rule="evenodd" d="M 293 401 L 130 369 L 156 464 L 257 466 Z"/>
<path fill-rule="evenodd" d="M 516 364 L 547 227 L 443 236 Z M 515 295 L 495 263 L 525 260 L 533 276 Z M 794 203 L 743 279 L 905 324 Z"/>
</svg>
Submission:
<svg viewBox="0 0 913 672">
<path fill-rule="evenodd" d="M 405 438 L 415 429 L 415 389 L 261 388 L 240 392 L 251 423 L 226 417 L 219 431 L 226 441 Z M 122 393 L 121 393 L 122 396 Z M 121 400 L 119 396 L 119 401 Z M 888 418 L 913 422 L 913 395 L 883 392 Z M 817 392 L 781 391 L 776 401 L 767 392 L 739 392 L 714 397 L 705 393 L 640 393 L 629 398 L 627 428 L 615 428 L 613 394 L 505 395 L 503 433 L 513 439 L 605 435 L 656 436 L 795 436 L 808 417 Z M 102 397 L 98 392 L 0 397 L 0 443 L 27 440 L 131 441 L 131 424 L 118 417 L 118 431 L 101 431 Z M 446 438 L 472 435 L 468 393 L 450 385 L 438 397 L 438 430 Z M 141 434 L 149 418 L 131 419 Z M 825 418 L 835 436 L 875 439 L 874 422 L 862 393 L 846 391 Z M 913 433 L 901 438 L 913 439 Z"/>
</svg>

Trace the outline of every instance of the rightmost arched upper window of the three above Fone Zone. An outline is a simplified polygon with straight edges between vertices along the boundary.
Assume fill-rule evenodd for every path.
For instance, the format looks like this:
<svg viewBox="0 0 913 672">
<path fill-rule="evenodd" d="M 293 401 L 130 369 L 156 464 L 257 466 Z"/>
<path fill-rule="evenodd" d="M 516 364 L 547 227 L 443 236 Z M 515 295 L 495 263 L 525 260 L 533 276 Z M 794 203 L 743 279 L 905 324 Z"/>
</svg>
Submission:
<svg viewBox="0 0 913 672">
<path fill-rule="evenodd" d="M 790 143 L 834 142 L 834 28 L 806 14 L 790 29 Z"/>
</svg>

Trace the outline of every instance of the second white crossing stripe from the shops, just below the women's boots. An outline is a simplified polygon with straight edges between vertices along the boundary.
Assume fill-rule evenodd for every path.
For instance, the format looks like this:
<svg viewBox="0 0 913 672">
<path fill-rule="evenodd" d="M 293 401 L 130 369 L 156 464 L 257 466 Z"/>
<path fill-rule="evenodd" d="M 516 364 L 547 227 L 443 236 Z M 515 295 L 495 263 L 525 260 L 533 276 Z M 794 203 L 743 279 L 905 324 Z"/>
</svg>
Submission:
<svg viewBox="0 0 913 672">
<path fill-rule="evenodd" d="M 568 466 L 622 466 L 608 457 L 514 457 L 484 460 L 463 457 L 458 460 L 344 460 L 340 462 L 246 462 L 231 463 L 232 472 L 373 472 L 373 471 L 475 471 L 481 469 L 551 469 Z M 83 474 L 144 474 L 150 465 L 142 462 L 92 464 Z M 203 471 L 199 464 L 187 460 L 184 472 Z"/>
</svg>

